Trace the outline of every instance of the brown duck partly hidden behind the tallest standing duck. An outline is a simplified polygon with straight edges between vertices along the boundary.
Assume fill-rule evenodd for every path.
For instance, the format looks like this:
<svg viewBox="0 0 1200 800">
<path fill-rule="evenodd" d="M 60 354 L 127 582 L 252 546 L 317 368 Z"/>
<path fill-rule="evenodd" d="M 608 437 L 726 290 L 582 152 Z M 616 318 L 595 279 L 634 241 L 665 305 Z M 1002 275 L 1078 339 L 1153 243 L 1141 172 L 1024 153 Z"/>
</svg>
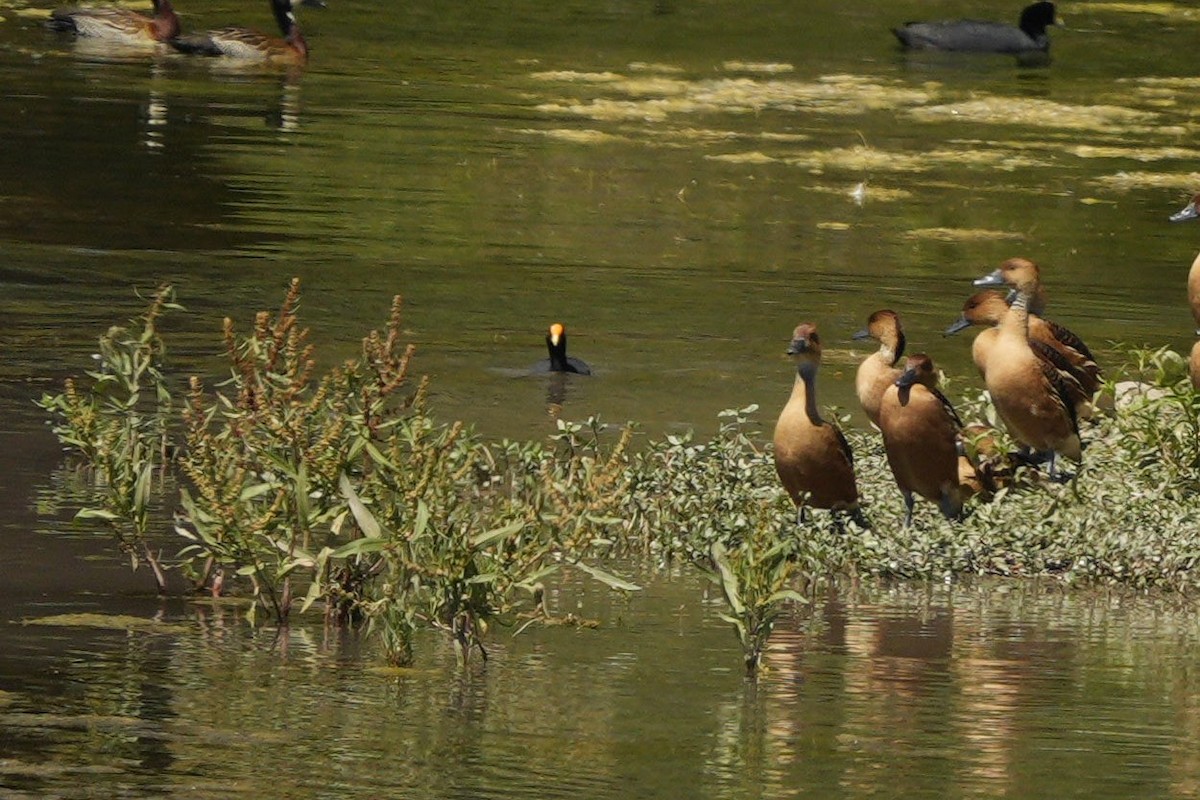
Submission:
<svg viewBox="0 0 1200 800">
<path fill-rule="evenodd" d="M 971 325 L 989 325 L 976 336 L 971 344 L 971 360 L 974 361 L 979 377 L 986 380 L 988 353 L 996 344 L 1000 336 L 998 326 L 1008 313 L 1008 300 L 998 291 L 984 290 L 967 297 L 962 303 L 962 314 L 959 319 L 946 329 L 946 335 L 952 336 Z M 1066 333 L 1058 333 L 1066 331 Z M 1074 333 L 1055 323 L 1049 323 L 1040 317 L 1030 313 L 1030 347 L 1034 355 L 1048 361 L 1055 369 L 1062 373 L 1064 385 L 1075 407 L 1075 414 L 1080 419 L 1090 419 L 1093 414 L 1092 398 L 1099 390 L 1099 368 L 1088 371 L 1079 366 L 1079 362 L 1091 363 L 1074 348 L 1064 344 L 1063 338 L 1076 338 Z M 1080 343 L 1082 344 L 1082 343 Z M 1086 345 L 1084 345 L 1086 349 Z"/>
</svg>

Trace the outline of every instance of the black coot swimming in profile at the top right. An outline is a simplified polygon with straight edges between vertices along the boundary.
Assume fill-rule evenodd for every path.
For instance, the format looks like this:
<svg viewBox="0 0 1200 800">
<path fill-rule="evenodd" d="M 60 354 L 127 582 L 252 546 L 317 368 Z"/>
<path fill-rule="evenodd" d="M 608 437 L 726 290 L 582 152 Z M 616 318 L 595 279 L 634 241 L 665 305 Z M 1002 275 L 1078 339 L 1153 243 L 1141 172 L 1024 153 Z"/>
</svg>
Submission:
<svg viewBox="0 0 1200 800">
<path fill-rule="evenodd" d="M 912 22 L 892 32 L 905 47 L 968 53 L 1030 53 L 1050 47 L 1046 28 L 1055 24 L 1052 2 L 1034 2 L 1021 11 L 1016 25 L 980 19 Z"/>
</svg>

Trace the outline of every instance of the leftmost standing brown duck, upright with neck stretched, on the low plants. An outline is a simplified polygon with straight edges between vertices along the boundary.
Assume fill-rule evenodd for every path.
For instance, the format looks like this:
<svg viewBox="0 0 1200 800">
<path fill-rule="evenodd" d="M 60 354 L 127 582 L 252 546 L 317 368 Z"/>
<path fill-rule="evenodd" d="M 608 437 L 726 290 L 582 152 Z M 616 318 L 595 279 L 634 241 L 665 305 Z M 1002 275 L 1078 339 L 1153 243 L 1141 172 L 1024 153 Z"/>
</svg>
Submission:
<svg viewBox="0 0 1200 800">
<path fill-rule="evenodd" d="M 779 480 L 796 503 L 800 522 L 805 519 L 806 506 L 850 511 L 862 521 L 850 443 L 817 410 L 821 337 L 816 325 L 803 323 L 796 327 L 787 355 L 796 360 L 796 383 L 775 423 Z"/>
</svg>

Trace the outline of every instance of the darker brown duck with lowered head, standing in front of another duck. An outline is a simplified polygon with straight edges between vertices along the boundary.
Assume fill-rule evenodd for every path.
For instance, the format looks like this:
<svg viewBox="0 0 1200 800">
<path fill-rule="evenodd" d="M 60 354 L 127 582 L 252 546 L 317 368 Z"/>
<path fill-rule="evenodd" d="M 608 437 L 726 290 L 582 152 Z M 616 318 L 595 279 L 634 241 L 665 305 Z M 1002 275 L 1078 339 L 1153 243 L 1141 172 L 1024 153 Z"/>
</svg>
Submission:
<svg viewBox="0 0 1200 800">
<path fill-rule="evenodd" d="M 924 353 L 908 356 L 904 372 L 883 393 L 880 431 L 904 495 L 905 527 L 912 524 L 913 494 L 936 503 L 947 519 L 959 518 L 964 482 L 976 476 L 960 474 L 962 420 L 937 390 L 934 361 Z"/>
</svg>

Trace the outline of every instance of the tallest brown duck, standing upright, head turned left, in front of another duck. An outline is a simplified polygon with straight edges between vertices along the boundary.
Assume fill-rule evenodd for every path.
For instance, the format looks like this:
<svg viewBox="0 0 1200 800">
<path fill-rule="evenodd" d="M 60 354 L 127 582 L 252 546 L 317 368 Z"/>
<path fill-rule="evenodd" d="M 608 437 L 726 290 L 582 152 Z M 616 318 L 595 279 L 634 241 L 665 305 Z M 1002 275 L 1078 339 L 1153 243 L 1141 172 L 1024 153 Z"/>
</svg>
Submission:
<svg viewBox="0 0 1200 800">
<path fill-rule="evenodd" d="M 1019 443 L 1050 451 L 1050 477 L 1057 477 L 1056 456 L 1082 459 L 1075 405 L 1062 375 L 1039 359 L 1030 345 L 1030 297 L 1038 287 L 1038 270 L 1027 259 L 1009 259 L 1001 266 L 1016 299 L 1000 323 L 996 343 L 988 354 L 984 383 L 996 413 Z M 992 276 L 980 278 L 985 283 Z M 977 281 L 979 283 L 979 281 Z"/>
</svg>

